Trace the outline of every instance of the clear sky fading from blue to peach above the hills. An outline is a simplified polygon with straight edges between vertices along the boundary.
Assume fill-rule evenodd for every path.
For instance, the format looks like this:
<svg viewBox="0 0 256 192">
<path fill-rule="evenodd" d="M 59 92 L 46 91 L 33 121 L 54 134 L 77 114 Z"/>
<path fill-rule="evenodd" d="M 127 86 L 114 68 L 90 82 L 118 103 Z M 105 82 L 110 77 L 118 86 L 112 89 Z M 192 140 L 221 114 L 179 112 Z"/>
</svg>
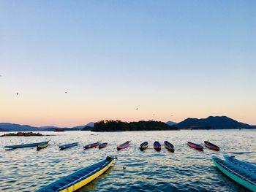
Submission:
<svg viewBox="0 0 256 192">
<path fill-rule="evenodd" d="M 2 0 L 0 122 L 226 115 L 256 125 L 255 10 L 236 0 Z"/>
</svg>

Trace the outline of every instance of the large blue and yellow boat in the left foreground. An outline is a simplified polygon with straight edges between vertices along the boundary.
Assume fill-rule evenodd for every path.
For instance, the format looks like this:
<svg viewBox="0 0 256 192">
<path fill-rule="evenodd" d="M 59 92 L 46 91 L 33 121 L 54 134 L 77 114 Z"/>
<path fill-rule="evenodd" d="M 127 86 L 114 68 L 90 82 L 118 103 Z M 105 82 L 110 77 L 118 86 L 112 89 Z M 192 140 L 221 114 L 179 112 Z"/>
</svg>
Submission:
<svg viewBox="0 0 256 192">
<path fill-rule="evenodd" d="M 99 161 L 97 164 L 87 166 L 86 168 L 80 169 L 73 174 L 69 174 L 66 177 L 61 177 L 50 185 L 39 189 L 38 192 L 50 192 L 50 191 L 60 191 L 60 192 L 72 192 L 77 191 L 84 185 L 87 185 L 92 180 L 95 180 L 99 175 L 107 171 L 110 166 L 114 163 L 114 157 L 107 157 L 103 161 Z"/>
</svg>

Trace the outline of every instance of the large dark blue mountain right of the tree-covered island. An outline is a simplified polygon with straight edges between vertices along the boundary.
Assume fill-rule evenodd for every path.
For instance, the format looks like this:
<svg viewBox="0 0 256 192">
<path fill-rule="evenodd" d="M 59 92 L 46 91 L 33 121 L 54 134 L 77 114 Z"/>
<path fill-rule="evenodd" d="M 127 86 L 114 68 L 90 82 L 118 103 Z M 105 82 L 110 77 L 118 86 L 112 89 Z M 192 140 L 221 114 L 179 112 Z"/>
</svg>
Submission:
<svg viewBox="0 0 256 192">
<path fill-rule="evenodd" d="M 226 116 L 210 116 L 208 118 L 187 118 L 186 120 L 177 123 L 178 128 L 187 129 L 237 129 L 237 128 L 255 128 L 246 123 L 240 123 L 237 120 L 227 118 Z"/>
</svg>

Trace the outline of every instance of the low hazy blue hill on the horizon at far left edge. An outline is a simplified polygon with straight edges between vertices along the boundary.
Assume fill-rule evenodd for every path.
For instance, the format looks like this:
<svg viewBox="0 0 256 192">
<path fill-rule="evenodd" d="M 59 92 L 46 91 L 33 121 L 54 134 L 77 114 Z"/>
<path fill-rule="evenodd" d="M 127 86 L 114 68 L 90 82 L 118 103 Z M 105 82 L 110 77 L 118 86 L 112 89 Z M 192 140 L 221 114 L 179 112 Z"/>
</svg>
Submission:
<svg viewBox="0 0 256 192">
<path fill-rule="evenodd" d="M 28 125 L 19 125 L 14 123 L 0 123 L 0 127 L 7 131 L 41 131 L 42 129 L 28 126 Z"/>
</svg>

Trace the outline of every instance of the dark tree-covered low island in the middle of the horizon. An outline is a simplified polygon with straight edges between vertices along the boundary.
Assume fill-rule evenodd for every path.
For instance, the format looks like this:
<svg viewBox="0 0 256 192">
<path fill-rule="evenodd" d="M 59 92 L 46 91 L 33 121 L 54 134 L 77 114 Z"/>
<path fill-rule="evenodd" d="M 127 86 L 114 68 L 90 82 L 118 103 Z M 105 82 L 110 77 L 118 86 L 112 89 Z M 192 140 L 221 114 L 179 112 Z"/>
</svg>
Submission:
<svg viewBox="0 0 256 192">
<path fill-rule="evenodd" d="M 179 130 L 176 126 L 169 126 L 161 121 L 140 120 L 138 122 L 123 122 L 121 120 L 101 120 L 94 123 L 91 131 L 173 131 Z"/>
</svg>

